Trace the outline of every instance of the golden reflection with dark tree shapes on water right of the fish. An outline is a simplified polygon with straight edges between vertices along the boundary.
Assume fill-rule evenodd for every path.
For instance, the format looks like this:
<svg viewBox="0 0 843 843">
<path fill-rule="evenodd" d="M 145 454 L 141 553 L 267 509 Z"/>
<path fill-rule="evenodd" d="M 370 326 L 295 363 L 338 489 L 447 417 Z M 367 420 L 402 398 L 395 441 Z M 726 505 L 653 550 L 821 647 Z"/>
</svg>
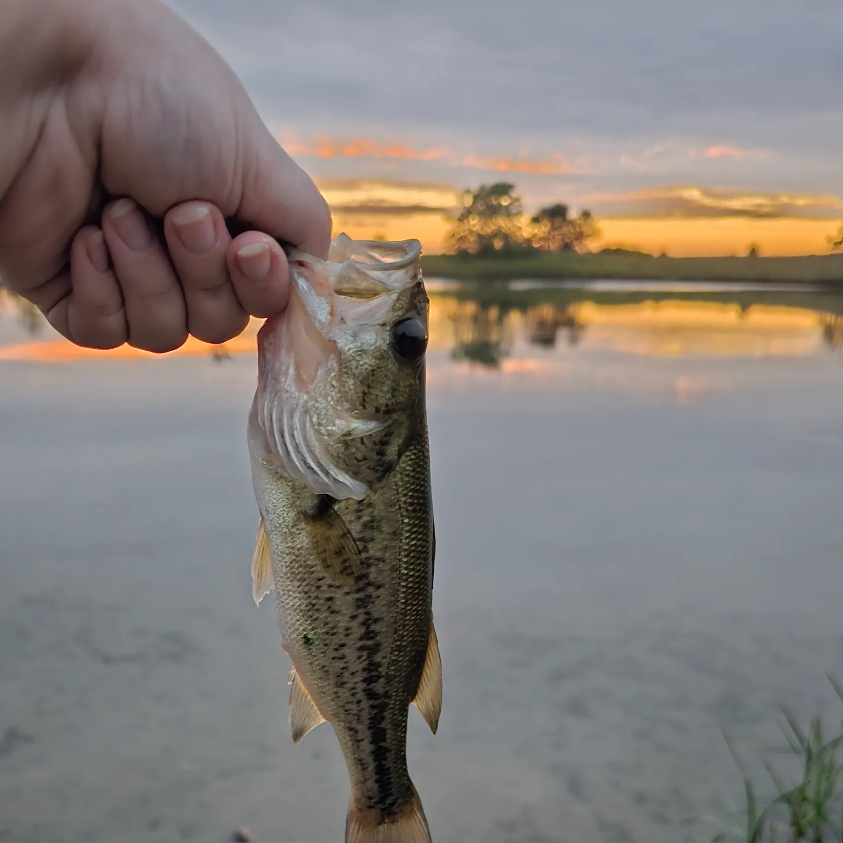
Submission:
<svg viewBox="0 0 843 843">
<path fill-rule="evenodd" d="M 464 293 L 466 294 L 466 293 Z M 440 295 L 433 308 L 445 319 L 454 360 L 501 368 L 507 357 L 540 356 L 560 346 L 648 357 L 804 357 L 843 347 L 843 316 L 835 310 L 768 302 L 648 298 L 576 298 L 506 304 Z M 839 305 L 828 297 L 826 307 Z M 447 324 L 445 324 L 447 323 Z"/>
</svg>

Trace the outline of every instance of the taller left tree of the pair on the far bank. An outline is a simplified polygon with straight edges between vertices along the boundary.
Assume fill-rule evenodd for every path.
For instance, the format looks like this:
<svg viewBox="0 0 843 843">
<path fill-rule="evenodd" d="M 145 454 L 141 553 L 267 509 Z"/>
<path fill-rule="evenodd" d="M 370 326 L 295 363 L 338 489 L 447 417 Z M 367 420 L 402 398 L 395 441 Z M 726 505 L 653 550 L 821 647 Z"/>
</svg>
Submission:
<svg viewBox="0 0 843 843">
<path fill-rule="evenodd" d="M 481 185 L 475 192 L 465 191 L 463 210 L 450 235 L 452 249 L 481 257 L 529 249 L 521 221 L 521 197 L 515 196 L 514 190 L 515 185 L 499 181 Z"/>
</svg>

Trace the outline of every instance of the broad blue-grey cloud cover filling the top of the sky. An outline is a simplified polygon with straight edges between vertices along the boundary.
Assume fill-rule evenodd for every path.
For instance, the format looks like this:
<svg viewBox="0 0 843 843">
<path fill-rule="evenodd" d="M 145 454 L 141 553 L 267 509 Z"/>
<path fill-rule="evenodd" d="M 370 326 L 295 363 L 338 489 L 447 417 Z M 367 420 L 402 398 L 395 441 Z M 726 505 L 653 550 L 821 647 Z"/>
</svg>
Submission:
<svg viewBox="0 0 843 843">
<path fill-rule="evenodd" d="M 301 131 L 413 126 L 566 148 L 714 133 L 831 149 L 841 126 L 837 0 L 171 3 L 270 119 Z"/>
</svg>

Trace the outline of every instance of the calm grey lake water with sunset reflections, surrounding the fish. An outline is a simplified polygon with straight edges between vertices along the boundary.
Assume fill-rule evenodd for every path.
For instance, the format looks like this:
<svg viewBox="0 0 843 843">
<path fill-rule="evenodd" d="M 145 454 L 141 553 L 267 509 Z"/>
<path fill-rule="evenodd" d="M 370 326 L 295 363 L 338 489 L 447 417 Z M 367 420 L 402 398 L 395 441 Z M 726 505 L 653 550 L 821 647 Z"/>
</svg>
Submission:
<svg viewBox="0 0 843 843">
<path fill-rule="evenodd" d="M 434 840 L 711 840 L 722 725 L 752 759 L 781 705 L 843 711 L 843 298 L 431 287 Z M 341 840 L 250 597 L 254 355 L 30 327 L 0 314 L 0 840 Z"/>
</svg>

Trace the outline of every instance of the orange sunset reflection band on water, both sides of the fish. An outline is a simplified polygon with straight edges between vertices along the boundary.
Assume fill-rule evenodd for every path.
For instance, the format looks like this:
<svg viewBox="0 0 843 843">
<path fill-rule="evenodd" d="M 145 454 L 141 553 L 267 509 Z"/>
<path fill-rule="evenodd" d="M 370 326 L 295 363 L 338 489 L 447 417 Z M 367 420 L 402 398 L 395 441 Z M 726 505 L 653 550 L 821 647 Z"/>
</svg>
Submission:
<svg viewBox="0 0 843 843">
<path fill-rule="evenodd" d="M 717 285 L 663 293 L 518 283 L 431 287 L 431 350 L 491 370 L 505 368 L 513 357 L 546 361 L 575 349 L 648 357 L 804 357 L 843 348 L 843 293 Z M 0 298 L 0 317 L 0 360 L 153 357 L 129 346 L 75 348 L 34 307 L 8 294 Z M 220 362 L 251 353 L 259 328 L 253 319 L 223 346 L 191 339 L 171 354 Z"/>
</svg>

